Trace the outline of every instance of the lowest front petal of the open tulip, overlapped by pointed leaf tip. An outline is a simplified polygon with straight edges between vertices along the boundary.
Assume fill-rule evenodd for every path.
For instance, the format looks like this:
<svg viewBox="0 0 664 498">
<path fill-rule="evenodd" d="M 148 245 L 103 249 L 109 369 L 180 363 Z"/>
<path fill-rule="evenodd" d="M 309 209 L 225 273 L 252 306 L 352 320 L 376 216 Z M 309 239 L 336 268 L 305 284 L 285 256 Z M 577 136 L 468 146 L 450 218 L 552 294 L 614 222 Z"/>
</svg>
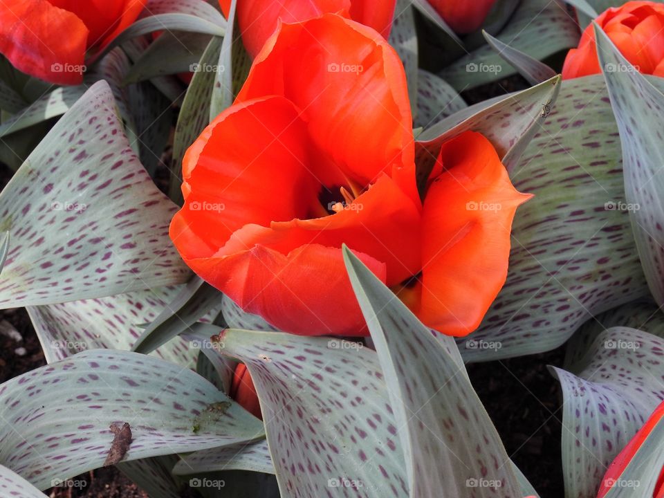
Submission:
<svg viewBox="0 0 664 498">
<path fill-rule="evenodd" d="M 385 282 L 385 264 L 355 253 Z M 244 311 L 299 335 L 368 335 L 342 250 L 317 244 L 288 255 L 254 246 L 232 256 L 187 261 Z"/>
</svg>

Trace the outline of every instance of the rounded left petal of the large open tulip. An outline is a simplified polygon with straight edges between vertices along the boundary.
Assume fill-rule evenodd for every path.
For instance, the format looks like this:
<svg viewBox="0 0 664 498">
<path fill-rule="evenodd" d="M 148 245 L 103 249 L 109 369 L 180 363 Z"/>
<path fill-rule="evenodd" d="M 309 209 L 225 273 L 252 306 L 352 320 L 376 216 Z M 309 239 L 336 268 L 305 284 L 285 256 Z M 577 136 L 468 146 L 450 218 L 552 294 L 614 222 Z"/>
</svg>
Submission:
<svg viewBox="0 0 664 498">
<path fill-rule="evenodd" d="M 271 97 L 234 105 L 203 131 L 185 154 L 185 205 L 170 229 L 185 261 L 211 257 L 248 223 L 306 217 L 320 183 L 304 127 L 293 104 Z"/>
</svg>

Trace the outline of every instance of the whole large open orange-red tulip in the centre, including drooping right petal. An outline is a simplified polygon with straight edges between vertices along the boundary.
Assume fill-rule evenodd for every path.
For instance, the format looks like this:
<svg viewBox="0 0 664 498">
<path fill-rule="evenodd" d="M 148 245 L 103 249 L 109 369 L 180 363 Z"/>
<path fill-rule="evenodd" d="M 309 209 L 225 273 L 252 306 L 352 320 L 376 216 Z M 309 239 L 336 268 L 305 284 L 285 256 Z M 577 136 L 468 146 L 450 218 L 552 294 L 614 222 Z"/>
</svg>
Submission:
<svg viewBox="0 0 664 498">
<path fill-rule="evenodd" d="M 280 26 L 183 178 L 170 234 L 185 262 L 303 335 L 367 334 L 343 244 L 425 324 L 470 333 L 528 199 L 474 132 L 443 145 L 421 198 L 403 66 L 378 32 L 331 14 Z"/>
</svg>

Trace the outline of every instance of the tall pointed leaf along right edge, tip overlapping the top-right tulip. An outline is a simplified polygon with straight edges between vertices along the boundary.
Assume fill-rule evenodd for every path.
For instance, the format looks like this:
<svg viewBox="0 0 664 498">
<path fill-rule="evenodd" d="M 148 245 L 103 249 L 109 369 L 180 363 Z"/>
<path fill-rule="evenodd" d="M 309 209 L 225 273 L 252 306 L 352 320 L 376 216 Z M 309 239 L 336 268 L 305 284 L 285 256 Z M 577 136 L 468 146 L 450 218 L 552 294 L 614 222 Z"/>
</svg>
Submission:
<svg viewBox="0 0 664 498">
<path fill-rule="evenodd" d="M 629 219 L 655 302 L 664 305 L 664 95 L 595 26 L 600 66 L 623 145 Z"/>
</svg>

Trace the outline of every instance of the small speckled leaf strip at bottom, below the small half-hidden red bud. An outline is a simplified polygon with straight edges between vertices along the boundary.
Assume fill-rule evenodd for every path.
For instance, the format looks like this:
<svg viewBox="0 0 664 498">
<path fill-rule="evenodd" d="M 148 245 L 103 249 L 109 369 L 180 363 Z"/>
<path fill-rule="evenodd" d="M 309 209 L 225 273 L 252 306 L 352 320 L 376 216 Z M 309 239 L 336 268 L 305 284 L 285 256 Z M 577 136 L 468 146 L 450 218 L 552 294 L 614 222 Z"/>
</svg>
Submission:
<svg viewBox="0 0 664 498">
<path fill-rule="evenodd" d="M 173 468 L 176 475 L 220 472 L 222 470 L 251 470 L 274 474 L 275 465 L 270 457 L 268 441 L 240 443 L 201 450 L 183 457 Z"/>
</svg>

